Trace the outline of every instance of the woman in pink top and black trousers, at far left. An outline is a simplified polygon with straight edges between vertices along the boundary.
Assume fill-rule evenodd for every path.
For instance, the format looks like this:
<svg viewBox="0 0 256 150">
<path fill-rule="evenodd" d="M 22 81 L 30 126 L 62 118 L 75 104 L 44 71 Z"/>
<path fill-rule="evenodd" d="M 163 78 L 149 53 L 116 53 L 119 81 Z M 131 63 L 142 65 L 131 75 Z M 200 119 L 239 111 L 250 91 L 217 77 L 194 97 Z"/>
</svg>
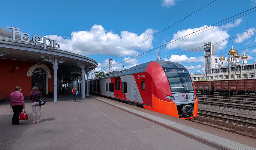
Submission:
<svg viewBox="0 0 256 150">
<path fill-rule="evenodd" d="M 25 101 L 20 86 L 16 86 L 15 92 L 10 94 L 10 107 L 13 109 L 12 125 L 22 124 L 19 122 L 19 115 L 22 109 L 25 108 Z"/>
</svg>

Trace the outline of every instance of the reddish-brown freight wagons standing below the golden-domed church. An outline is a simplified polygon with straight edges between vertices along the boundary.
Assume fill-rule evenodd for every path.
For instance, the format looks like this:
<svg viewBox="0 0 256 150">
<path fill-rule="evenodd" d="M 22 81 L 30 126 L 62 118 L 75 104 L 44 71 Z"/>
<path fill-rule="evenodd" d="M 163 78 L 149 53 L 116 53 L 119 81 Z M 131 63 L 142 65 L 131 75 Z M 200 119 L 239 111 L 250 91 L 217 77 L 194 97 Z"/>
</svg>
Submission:
<svg viewBox="0 0 256 150">
<path fill-rule="evenodd" d="M 234 95 L 256 93 L 256 79 L 194 81 L 195 89 L 202 94 L 219 93 L 219 95 Z"/>
</svg>

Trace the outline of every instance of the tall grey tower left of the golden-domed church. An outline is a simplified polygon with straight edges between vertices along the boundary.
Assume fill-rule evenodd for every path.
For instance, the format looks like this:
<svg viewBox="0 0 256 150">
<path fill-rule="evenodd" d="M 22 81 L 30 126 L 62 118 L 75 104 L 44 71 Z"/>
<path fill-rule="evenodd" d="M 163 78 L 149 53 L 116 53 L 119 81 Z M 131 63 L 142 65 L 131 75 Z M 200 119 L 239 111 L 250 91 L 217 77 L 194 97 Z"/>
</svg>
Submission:
<svg viewBox="0 0 256 150">
<path fill-rule="evenodd" d="M 204 43 L 204 70 L 210 74 L 211 68 L 215 68 L 214 41 Z"/>
</svg>

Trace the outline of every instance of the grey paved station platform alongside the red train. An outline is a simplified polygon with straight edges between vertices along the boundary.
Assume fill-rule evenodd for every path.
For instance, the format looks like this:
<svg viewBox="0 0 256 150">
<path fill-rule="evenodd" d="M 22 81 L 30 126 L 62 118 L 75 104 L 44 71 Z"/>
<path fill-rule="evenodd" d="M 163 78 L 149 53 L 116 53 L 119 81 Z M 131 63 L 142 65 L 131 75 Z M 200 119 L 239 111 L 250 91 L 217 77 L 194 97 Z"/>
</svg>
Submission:
<svg viewBox="0 0 256 150">
<path fill-rule="evenodd" d="M 41 108 L 39 124 L 32 124 L 31 101 L 25 101 L 28 120 L 20 121 L 22 122 L 21 125 L 11 125 L 13 113 L 9 101 L 0 103 L 1 150 L 214 149 L 197 140 L 143 119 L 135 115 L 135 113 L 154 121 L 169 121 L 166 124 L 183 126 L 182 130 L 189 130 L 186 132 L 192 132 L 194 128 L 203 129 L 204 125 L 172 118 L 102 97 L 90 96 L 86 97 L 86 99 L 81 99 L 81 94 L 79 94 L 76 103 L 73 103 L 70 90 L 58 94 L 58 102 L 53 102 L 53 99 L 46 99 L 46 101 L 47 103 Z M 121 109 L 118 109 L 118 107 Z M 130 113 L 131 111 L 132 113 Z M 173 124 L 173 121 L 175 124 Z M 189 125 L 185 127 L 182 124 Z M 205 129 L 202 132 L 207 130 L 209 129 Z M 230 135 L 225 135 L 225 133 L 229 134 L 229 132 L 218 131 L 220 135 L 223 134 L 221 138 L 226 140 L 226 138 L 230 137 Z M 210 128 L 210 132 L 217 134 L 215 128 Z M 248 147 L 253 146 L 252 143 L 255 139 L 248 139 L 237 134 L 233 135 L 235 137 L 231 137 L 231 143 L 238 144 L 238 146 L 246 146 L 249 149 L 256 148 L 256 146 L 254 148 Z M 211 137 L 215 138 L 215 136 Z M 247 143 L 243 143 L 246 144 L 243 145 L 236 141 L 247 141 Z"/>
</svg>

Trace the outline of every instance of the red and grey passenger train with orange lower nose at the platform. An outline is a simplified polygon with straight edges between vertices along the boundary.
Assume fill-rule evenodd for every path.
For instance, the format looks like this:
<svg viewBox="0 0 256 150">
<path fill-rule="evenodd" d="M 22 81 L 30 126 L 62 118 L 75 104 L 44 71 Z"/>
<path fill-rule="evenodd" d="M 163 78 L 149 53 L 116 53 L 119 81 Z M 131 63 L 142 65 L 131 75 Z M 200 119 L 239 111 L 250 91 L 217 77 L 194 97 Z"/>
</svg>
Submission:
<svg viewBox="0 0 256 150">
<path fill-rule="evenodd" d="M 198 115 L 198 99 L 187 69 L 151 61 L 114 75 L 89 80 L 89 92 L 182 119 Z"/>
</svg>

